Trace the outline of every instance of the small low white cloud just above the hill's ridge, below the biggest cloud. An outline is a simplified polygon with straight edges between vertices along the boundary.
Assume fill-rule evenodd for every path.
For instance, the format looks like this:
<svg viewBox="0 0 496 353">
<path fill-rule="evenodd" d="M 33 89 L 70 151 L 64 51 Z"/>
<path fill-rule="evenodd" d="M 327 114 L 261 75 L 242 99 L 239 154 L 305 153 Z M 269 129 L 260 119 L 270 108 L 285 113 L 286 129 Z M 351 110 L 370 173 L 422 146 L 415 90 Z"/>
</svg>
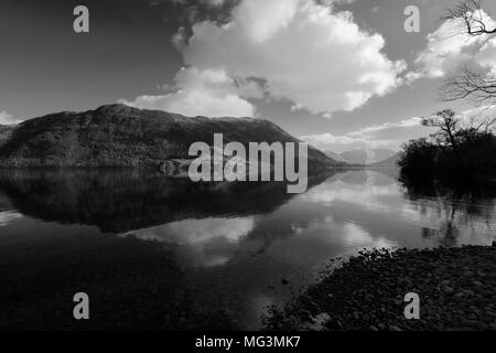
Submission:
<svg viewBox="0 0 496 353">
<path fill-rule="evenodd" d="M 158 109 L 185 116 L 254 117 L 255 107 L 240 95 L 254 97 L 259 92 L 251 82 L 227 76 L 222 69 L 182 68 L 175 77 L 175 92 L 140 96 L 120 103 L 137 108 Z"/>
</svg>

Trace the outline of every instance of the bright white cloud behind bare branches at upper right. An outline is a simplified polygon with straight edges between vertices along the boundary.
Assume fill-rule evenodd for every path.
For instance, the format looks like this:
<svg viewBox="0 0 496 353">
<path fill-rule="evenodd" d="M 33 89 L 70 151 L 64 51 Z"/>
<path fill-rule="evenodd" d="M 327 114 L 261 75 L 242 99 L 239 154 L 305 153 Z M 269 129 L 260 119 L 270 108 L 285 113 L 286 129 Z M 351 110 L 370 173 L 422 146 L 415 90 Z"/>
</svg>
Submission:
<svg viewBox="0 0 496 353">
<path fill-rule="evenodd" d="M 489 25 L 496 23 L 483 10 L 477 17 Z M 462 65 L 476 65 L 496 74 L 496 38 L 470 36 L 462 19 L 444 21 L 428 34 L 427 41 L 425 49 L 416 58 L 417 69 L 407 74 L 409 82 L 421 77 L 444 77 Z"/>
</svg>

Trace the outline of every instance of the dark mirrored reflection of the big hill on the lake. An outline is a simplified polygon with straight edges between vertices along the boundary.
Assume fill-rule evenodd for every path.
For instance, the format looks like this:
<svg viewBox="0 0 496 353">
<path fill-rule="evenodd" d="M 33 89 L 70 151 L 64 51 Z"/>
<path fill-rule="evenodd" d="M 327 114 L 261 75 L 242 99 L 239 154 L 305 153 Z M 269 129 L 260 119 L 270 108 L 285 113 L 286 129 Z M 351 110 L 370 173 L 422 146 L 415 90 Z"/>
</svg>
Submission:
<svg viewBox="0 0 496 353">
<path fill-rule="evenodd" d="M 310 188 L 328 174 L 309 178 Z M 0 170 L 0 192 L 24 215 L 115 233 L 270 213 L 292 197 L 283 183 L 192 183 L 134 170 Z"/>
</svg>

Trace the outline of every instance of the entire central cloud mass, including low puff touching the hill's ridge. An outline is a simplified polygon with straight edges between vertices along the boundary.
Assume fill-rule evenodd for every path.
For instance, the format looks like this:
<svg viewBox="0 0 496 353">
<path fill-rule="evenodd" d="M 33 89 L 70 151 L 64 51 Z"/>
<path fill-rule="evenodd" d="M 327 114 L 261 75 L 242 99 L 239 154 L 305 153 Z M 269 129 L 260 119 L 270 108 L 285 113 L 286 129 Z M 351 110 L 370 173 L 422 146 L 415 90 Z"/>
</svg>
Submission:
<svg viewBox="0 0 496 353">
<path fill-rule="evenodd" d="M 343 2 L 241 0 L 228 21 L 177 31 L 173 42 L 190 68 L 177 74 L 176 92 L 121 101 L 188 116 L 254 116 L 248 99 L 263 92 L 315 114 L 354 110 L 397 87 L 405 62 L 390 61 L 380 34 L 335 10 Z"/>
</svg>

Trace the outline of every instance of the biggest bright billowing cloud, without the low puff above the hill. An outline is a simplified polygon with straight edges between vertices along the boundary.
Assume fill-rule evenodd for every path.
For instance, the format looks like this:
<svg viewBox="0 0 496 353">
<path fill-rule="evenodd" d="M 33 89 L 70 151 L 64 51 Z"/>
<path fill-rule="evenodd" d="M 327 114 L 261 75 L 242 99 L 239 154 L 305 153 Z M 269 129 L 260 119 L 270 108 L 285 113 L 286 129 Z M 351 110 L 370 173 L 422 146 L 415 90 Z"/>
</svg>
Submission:
<svg viewBox="0 0 496 353">
<path fill-rule="evenodd" d="M 384 45 L 347 11 L 313 0 L 244 0 L 227 24 L 196 23 L 181 50 L 201 71 L 261 78 L 274 98 L 332 113 L 353 110 L 399 84 L 405 63 L 389 61 Z"/>
</svg>

